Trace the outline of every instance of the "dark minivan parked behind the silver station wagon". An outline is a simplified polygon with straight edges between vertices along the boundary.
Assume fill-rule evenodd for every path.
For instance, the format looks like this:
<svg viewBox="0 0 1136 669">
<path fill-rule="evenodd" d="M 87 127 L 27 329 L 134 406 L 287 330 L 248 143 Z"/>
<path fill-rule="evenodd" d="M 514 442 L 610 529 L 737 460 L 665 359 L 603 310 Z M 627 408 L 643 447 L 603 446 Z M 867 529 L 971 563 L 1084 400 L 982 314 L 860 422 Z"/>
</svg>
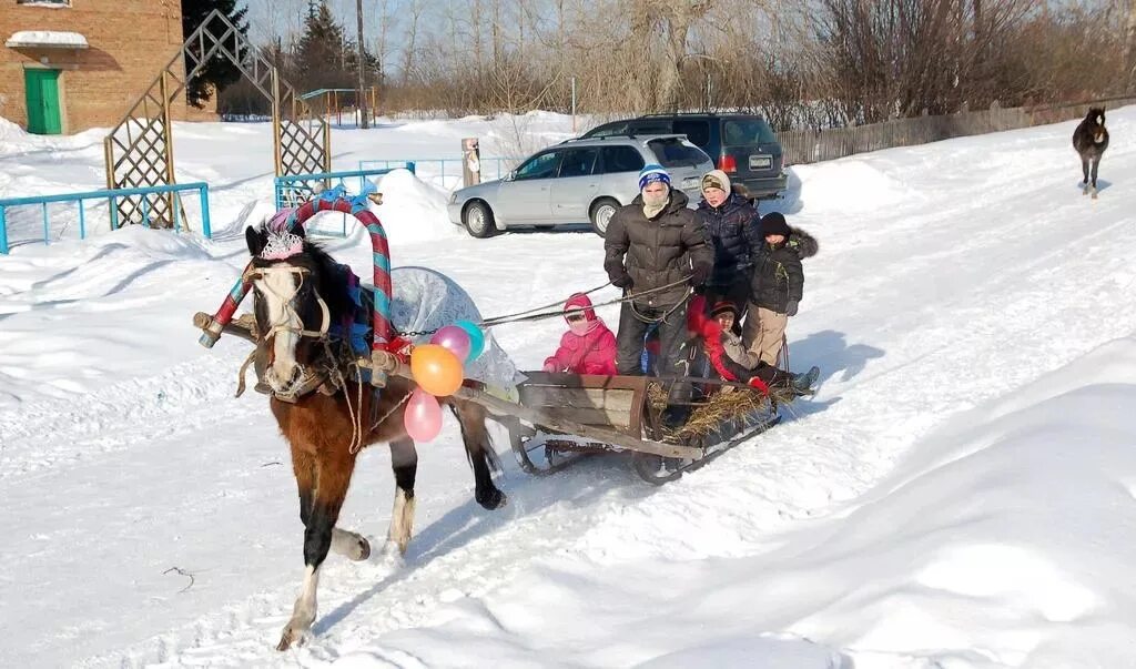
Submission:
<svg viewBox="0 0 1136 669">
<path fill-rule="evenodd" d="M 612 135 L 686 135 L 710 154 L 718 169 L 757 198 L 785 190 L 782 145 L 769 124 L 747 114 L 652 114 L 596 126 L 582 139 Z"/>
</svg>

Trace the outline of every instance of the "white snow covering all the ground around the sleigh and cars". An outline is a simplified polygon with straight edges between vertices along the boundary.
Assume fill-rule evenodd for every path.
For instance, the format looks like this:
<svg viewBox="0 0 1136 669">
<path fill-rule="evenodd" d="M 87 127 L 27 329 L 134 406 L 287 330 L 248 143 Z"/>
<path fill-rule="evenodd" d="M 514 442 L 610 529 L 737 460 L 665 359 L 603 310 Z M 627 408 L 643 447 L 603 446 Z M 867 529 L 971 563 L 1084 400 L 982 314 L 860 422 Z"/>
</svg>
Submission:
<svg viewBox="0 0 1136 669">
<path fill-rule="evenodd" d="M 450 421 L 419 449 L 404 561 L 329 558 L 314 643 L 279 654 L 302 576 L 287 450 L 261 395 L 232 398 L 247 345 L 206 351 L 190 325 L 270 210 L 269 133 L 178 124 L 214 242 L 78 242 L 60 206 L 44 246 L 36 211 L 9 215 L 0 666 L 1136 666 L 1136 109 L 1110 111 L 1097 201 L 1074 125 L 796 168 L 779 207 L 821 244 L 790 326 L 794 367 L 824 369 L 811 402 L 662 488 L 616 457 L 528 478 L 499 438 L 498 512 Z M 510 154 L 521 126 L 524 150 L 569 134 L 554 115 L 391 122 L 334 132 L 333 167 L 449 158 L 463 136 Z M 0 198 L 99 187 L 100 140 L 0 122 Z M 394 264 L 486 315 L 604 281 L 591 233 L 473 240 L 438 189 L 381 190 Z M 361 235 L 328 243 L 369 274 Z M 559 332 L 494 334 L 533 367 Z M 377 545 L 392 496 L 373 449 L 341 525 Z"/>
</svg>

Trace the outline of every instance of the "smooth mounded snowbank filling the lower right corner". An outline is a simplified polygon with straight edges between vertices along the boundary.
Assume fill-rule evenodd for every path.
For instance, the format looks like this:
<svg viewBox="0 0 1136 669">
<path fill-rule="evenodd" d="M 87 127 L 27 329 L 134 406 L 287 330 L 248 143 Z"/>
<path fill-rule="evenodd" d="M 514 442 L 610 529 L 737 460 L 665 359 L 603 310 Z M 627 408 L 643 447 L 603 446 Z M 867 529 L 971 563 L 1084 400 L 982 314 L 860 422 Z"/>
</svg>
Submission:
<svg viewBox="0 0 1136 669">
<path fill-rule="evenodd" d="M 959 416 L 766 550 L 612 562 L 585 541 L 342 666 L 462 667 L 470 647 L 516 666 L 1129 666 L 1133 378 L 1136 336 Z"/>
</svg>

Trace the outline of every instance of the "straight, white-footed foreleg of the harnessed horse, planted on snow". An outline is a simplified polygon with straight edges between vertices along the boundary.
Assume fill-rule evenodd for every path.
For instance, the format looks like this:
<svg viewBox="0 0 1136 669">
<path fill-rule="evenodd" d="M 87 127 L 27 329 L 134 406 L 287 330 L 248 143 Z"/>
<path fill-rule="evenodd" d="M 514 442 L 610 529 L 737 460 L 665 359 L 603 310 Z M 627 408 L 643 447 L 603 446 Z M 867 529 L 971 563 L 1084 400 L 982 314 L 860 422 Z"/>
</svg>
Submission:
<svg viewBox="0 0 1136 669">
<path fill-rule="evenodd" d="M 292 609 L 292 619 L 284 626 L 281 642 L 276 645 L 278 651 L 286 651 L 292 644 L 302 645 L 316 620 L 319 568 L 332 547 L 335 521 L 351 484 L 353 469 L 354 455 L 346 452 L 336 455 L 321 452 L 316 458 L 315 495 L 303 532 L 303 585 Z"/>
</svg>

